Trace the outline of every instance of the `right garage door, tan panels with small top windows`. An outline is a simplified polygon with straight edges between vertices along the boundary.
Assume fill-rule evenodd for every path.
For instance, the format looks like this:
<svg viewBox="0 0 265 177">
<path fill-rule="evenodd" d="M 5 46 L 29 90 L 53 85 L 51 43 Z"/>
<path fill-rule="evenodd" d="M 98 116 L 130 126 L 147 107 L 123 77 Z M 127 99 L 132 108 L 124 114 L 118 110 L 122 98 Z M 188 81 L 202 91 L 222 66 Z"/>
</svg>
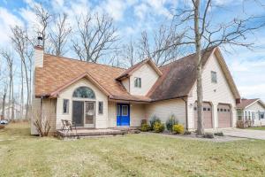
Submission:
<svg viewBox="0 0 265 177">
<path fill-rule="evenodd" d="M 218 127 L 231 127 L 231 107 L 229 104 L 218 104 Z"/>
</svg>

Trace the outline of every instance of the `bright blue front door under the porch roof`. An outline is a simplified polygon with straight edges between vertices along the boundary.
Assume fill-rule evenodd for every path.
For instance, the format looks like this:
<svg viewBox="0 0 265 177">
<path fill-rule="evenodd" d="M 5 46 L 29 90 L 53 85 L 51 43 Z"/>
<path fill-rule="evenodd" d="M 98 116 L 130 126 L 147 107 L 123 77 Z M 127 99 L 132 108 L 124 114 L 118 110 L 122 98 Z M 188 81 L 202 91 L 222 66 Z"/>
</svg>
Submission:
<svg viewBox="0 0 265 177">
<path fill-rule="evenodd" d="M 117 104 L 117 126 L 130 126 L 130 104 Z"/>
</svg>

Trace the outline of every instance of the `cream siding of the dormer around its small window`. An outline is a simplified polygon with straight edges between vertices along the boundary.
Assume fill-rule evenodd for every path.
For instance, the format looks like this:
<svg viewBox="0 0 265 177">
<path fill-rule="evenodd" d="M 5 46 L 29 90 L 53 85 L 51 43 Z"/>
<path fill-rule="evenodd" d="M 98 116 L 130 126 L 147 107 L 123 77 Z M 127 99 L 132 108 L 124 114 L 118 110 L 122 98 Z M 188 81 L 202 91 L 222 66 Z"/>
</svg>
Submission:
<svg viewBox="0 0 265 177">
<path fill-rule="evenodd" d="M 141 88 L 134 88 L 135 77 L 141 78 Z M 130 77 L 130 93 L 135 96 L 146 96 L 158 77 L 159 75 L 150 65 L 142 65 Z"/>
</svg>

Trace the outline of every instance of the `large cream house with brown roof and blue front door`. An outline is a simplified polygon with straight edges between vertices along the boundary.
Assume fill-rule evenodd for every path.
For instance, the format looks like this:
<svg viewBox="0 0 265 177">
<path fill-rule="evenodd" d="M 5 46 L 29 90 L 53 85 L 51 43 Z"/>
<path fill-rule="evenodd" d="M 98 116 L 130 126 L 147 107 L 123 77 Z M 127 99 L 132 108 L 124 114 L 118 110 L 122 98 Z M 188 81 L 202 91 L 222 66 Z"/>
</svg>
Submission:
<svg viewBox="0 0 265 177">
<path fill-rule="evenodd" d="M 205 127 L 235 127 L 239 91 L 220 50 L 202 52 Z M 122 69 L 43 54 L 37 46 L 33 111 L 42 112 L 51 131 L 62 127 L 61 119 L 79 127 L 140 127 L 142 119 L 155 115 L 165 122 L 170 114 L 193 130 L 197 124 L 196 61 L 193 54 L 157 67 L 145 59 Z M 32 134 L 36 134 L 34 126 Z"/>
</svg>

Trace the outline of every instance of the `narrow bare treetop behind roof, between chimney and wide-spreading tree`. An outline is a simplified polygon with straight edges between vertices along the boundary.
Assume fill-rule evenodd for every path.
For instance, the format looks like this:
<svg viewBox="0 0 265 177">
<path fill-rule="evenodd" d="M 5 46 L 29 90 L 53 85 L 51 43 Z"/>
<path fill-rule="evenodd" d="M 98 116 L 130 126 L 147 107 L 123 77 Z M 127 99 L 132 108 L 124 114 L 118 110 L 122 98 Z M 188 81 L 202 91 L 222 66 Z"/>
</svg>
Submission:
<svg viewBox="0 0 265 177">
<path fill-rule="evenodd" d="M 62 56 L 64 55 L 64 47 L 68 36 L 71 34 L 72 28 L 67 24 L 67 14 L 59 14 L 55 20 L 55 29 L 51 30 L 50 42 L 52 46 L 51 53 Z"/>
</svg>

